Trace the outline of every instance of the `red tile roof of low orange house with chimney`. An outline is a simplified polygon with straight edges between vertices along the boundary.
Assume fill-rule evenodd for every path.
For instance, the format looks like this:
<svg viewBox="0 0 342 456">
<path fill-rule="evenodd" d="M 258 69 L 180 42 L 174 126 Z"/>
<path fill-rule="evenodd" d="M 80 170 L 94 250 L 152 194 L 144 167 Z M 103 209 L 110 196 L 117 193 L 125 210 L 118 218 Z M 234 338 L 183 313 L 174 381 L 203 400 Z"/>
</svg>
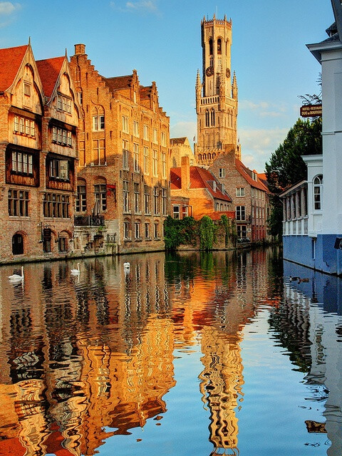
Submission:
<svg viewBox="0 0 342 456">
<path fill-rule="evenodd" d="M 171 190 L 180 190 L 182 188 L 181 168 L 171 168 L 170 170 Z M 217 183 L 216 190 L 208 182 L 215 181 Z M 190 166 L 190 189 L 206 188 L 212 197 L 223 199 L 224 201 L 232 202 L 232 199 L 223 194 L 219 190 L 219 182 L 215 179 L 211 172 L 204 170 L 199 166 Z"/>
</svg>

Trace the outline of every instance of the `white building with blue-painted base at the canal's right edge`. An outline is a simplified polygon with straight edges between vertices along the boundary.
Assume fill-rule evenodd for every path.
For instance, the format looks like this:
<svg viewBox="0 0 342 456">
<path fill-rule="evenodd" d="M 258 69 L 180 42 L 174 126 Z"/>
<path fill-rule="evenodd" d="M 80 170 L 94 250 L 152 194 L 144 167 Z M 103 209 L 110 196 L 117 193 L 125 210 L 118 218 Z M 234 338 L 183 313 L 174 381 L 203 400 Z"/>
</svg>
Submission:
<svg viewBox="0 0 342 456">
<path fill-rule="evenodd" d="M 336 24 L 329 38 L 307 45 L 321 63 L 323 155 L 307 155 L 307 232 L 294 232 L 284 217 L 284 259 L 328 274 L 342 274 L 342 6 L 331 0 Z M 291 190 L 291 189 L 290 189 Z M 285 197 L 286 194 L 282 195 Z M 286 204 L 286 203 L 285 203 Z M 294 215 L 294 217 L 292 217 Z M 293 224 L 294 226 L 294 224 Z"/>
</svg>

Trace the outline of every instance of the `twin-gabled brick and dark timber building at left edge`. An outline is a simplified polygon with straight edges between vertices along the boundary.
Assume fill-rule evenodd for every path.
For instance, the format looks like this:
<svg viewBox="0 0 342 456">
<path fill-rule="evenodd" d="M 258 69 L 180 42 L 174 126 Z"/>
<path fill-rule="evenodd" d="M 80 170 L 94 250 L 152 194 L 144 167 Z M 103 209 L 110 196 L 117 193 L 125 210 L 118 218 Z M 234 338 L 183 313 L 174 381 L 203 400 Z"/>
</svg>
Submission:
<svg viewBox="0 0 342 456">
<path fill-rule="evenodd" d="M 80 117 L 68 59 L 35 61 L 28 43 L 0 63 L 1 261 L 65 257 Z"/>
</svg>

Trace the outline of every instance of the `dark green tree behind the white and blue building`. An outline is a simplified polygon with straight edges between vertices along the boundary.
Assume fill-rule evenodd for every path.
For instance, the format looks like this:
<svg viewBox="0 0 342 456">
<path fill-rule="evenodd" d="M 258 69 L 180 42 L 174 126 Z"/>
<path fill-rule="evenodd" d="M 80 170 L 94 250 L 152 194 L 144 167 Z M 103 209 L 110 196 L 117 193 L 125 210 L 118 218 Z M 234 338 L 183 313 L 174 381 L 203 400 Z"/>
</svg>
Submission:
<svg viewBox="0 0 342 456">
<path fill-rule="evenodd" d="M 321 118 L 297 120 L 289 130 L 284 142 L 265 164 L 271 192 L 271 235 L 281 237 L 283 210 L 279 195 L 292 185 L 306 179 L 306 164 L 301 155 L 322 153 Z"/>
</svg>

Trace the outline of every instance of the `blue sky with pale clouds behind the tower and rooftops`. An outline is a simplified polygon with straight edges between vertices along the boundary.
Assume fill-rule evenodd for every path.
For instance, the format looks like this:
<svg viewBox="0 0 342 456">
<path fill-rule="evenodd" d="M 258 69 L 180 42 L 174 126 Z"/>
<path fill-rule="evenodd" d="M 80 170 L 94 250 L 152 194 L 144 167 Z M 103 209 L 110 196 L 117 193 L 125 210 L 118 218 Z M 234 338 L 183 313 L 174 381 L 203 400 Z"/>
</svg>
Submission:
<svg viewBox="0 0 342 456">
<path fill-rule="evenodd" d="M 172 137 L 196 133 L 195 78 L 202 68 L 203 16 L 232 18 L 232 70 L 239 86 L 242 161 L 261 172 L 299 118 L 298 95 L 318 93 L 320 66 L 306 48 L 327 37 L 330 0 L 0 1 L 0 46 L 31 37 L 36 59 L 86 53 L 103 76 L 138 70 L 156 81 Z"/>
</svg>

